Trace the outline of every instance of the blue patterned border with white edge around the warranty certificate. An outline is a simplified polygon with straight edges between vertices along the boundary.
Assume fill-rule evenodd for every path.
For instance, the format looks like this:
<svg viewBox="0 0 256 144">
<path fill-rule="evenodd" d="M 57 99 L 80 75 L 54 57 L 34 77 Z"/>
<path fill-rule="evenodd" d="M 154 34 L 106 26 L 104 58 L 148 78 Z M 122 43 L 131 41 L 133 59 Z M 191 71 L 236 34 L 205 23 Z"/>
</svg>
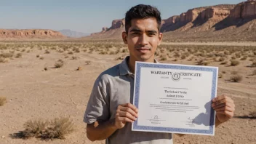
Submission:
<svg viewBox="0 0 256 144">
<path fill-rule="evenodd" d="M 196 70 L 196 71 L 210 71 L 212 72 L 212 99 L 216 97 L 217 87 L 217 67 L 209 66 L 194 66 L 194 65 L 177 65 L 177 64 L 161 64 L 161 63 L 144 63 L 136 62 L 135 64 L 135 92 L 133 103 L 139 108 L 139 94 L 140 94 L 140 70 L 141 68 L 168 68 L 179 70 Z M 138 118 L 139 119 L 139 118 Z M 199 135 L 215 135 L 215 111 L 211 108 L 209 129 L 184 129 L 173 127 L 149 127 L 140 126 L 137 121 L 132 123 L 132 130 L 134 131 L 147 131 L 147 132 L 178 132 L 185 134 L 199 134 Z"/>
</svg>

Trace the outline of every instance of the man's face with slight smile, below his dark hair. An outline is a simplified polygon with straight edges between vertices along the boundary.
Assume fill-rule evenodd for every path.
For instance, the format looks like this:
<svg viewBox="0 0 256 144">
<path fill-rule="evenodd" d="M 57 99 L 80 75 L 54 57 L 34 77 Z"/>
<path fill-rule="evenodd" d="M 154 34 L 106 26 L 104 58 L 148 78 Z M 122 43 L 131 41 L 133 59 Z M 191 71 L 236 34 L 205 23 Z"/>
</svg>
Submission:
<svg viewBox="0 0 256 144">
<path fill-rule="evenodd" d="M 135 61 L 153 62 L 157 46 L 162 39 L 155 18 L 133 19 L 128 33 L 123 32 L 124 44 Z"/>
</svg>

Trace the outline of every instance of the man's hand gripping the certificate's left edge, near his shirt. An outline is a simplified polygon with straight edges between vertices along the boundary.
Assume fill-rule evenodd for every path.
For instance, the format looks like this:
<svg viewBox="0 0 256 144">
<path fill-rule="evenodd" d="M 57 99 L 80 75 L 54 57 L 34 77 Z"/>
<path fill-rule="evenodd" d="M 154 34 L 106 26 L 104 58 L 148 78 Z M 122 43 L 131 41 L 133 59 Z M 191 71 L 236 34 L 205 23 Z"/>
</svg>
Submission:
<svg viewBox="0 0 256 144">
<path fill-rule="evenodd" d="M 133 122 L 137 120 L 138 109 L 131 103 L 119 105 L 116 110 L 115 126 L 117 129 L 121 129 L 127 122 Z"/>
</svg>

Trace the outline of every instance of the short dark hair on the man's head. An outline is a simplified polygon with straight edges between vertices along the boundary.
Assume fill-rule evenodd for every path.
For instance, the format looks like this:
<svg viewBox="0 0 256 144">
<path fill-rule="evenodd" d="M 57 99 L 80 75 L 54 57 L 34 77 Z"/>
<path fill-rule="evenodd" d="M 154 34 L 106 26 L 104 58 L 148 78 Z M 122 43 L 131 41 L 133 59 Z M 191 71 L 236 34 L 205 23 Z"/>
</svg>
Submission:
<svg viewBox="0 0 256 144">
<path fill-rule="evenodd" d="M 131 27 L 131 21 L 133 19 L 145 19 L 145 18 L 156 18 L 157 28 L 160 30 L 161 27 L 161 12 L 156 7 L 151 5 L 138 4 L 135 7 L 132 7 L 127 11 L 125 15 L 125 31 L 128 33 L 129 28 Z"/>
</svg>

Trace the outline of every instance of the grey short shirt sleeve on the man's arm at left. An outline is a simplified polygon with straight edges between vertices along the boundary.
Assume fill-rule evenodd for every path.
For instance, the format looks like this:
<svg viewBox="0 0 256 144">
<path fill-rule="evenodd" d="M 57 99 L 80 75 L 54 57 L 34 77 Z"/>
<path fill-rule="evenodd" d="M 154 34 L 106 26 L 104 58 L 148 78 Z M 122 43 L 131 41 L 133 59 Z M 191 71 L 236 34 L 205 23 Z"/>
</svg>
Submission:
<svg viewBox="0 0 256 144">
<path fill-rule="evenodd" d="M 87 124 L 92 124 L 95 121 L 108 121 L 110 118 L 109 100 L 105 85 L 104 81 L 99 80 L 99 78 L 95 81 L 84 113 L 84 122 Z"/>
</svg>

